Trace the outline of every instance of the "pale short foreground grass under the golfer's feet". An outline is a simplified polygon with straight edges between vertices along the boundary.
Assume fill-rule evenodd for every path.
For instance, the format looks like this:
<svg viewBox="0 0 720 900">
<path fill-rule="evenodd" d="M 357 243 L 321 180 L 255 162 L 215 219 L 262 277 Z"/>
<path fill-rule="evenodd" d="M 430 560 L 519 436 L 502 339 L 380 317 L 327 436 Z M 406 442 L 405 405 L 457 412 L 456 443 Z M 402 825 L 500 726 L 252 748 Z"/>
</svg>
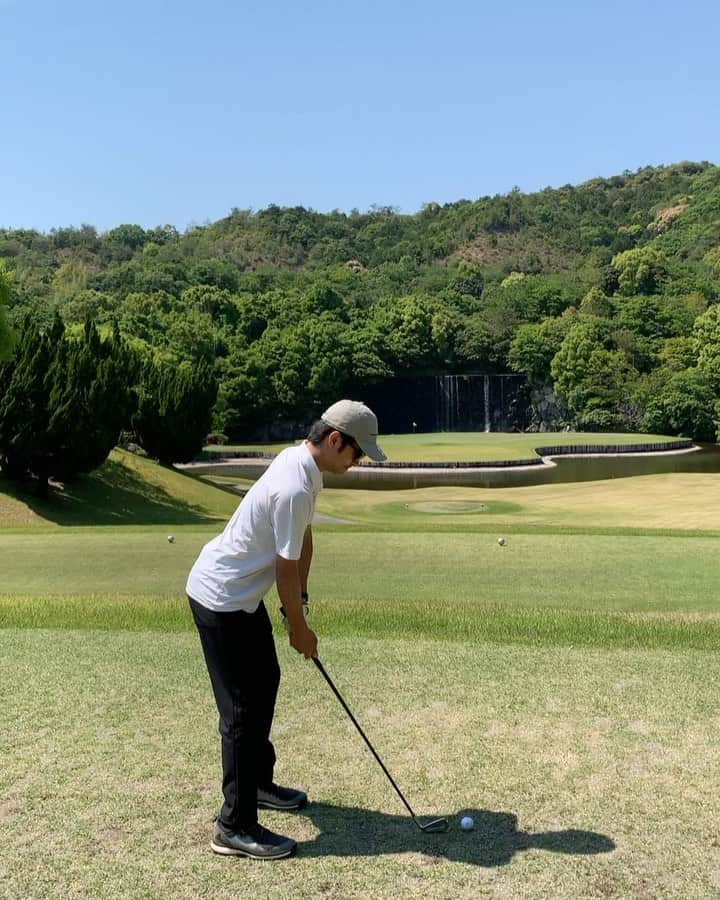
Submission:
<svg viewBox="0 0 720 900">
<path fill-rule="evenodd" d="M 313 803 L 263 815 L 300 853 L 260 865 L 209 852 L 219 747 L 195 635 L 0 631 L 3 896 L 717 896 L 717 654 L 328 640 L 445 835 L 412 826 L 319 674 L 280 656 L 278 776 Z"/>
</svg>

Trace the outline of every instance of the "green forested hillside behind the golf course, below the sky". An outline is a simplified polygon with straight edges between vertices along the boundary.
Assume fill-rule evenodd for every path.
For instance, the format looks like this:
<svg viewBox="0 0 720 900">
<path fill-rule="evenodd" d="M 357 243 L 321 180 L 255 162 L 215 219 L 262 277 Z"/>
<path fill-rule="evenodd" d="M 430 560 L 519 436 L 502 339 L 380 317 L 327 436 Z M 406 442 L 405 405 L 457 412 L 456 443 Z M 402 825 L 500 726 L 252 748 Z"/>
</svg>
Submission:
<svg viewBox="0 0 720 900">
<path fill-rule="evenodd" d="M 553 414 L 583 427 L 647 424 L 678 378 L 702 395 L 704 434 L 718 418 L 709 163 L 415 215 L 271 206 L 184 233 L 0 230 L 0 265 L 16 328 L 59 310 L 69 326 L 117 321 L 170 362 L 211 362 L 216 427 L 235 434 L 393 375 L 468 371 L 550 386 Z"/>
</svg>

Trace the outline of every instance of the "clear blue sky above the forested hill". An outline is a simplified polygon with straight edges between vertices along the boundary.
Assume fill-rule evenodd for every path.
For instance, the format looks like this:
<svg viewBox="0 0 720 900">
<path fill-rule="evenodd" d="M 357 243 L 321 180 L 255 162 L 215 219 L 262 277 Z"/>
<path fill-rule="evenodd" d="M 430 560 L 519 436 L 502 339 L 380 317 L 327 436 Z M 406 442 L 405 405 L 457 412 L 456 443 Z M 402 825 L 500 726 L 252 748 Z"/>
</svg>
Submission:
<svg viewBox="0 0 720 900">
<path fill-rule="evenodd" d="M 720 162 L 717 0 L 0 0 L 0 227 Z"/>
</svg>

